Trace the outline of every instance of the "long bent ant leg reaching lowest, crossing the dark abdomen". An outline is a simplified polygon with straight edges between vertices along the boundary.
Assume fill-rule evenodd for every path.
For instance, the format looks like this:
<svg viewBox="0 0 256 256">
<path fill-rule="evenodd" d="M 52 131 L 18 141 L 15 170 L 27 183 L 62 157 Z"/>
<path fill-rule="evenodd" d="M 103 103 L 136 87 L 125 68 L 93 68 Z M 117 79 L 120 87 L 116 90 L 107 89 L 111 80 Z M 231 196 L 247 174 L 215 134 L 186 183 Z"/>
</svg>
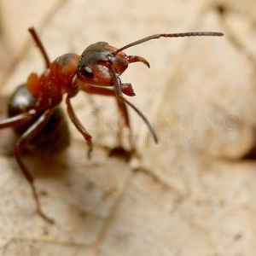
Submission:
<svg viewBox="0 0 256 256">
<path fill-rule="evenodd" d="M 21 160 L 21 155 L 20 155 L 22 148 L 24 148 L 26 146 L 26 144 L 29 143 L 32 140 L 32 138 L 35 137 L 38 134 L 38 132 L 44 127 L 44 125 L 47 123 L 51 113 L 52 113 L 51 109 L 46 110 L 39 117 L 39 119 L 30 128 L 28 128 L 26 130 L 26 132 L 20 137 L 18 143 L 16 143 L 16 146 L 15 146 L 15 159 L 16 159 L 18 165 L 20 166 L 21 172 L 26 177 L 27 182 L 30 184 L 30 186 L 32 188 L 32 195 L 34 197 L 34 200 L 36 201 L 36 207 L 37 207 L 38 214 L 42 218 L 44 218 L 46 221 L 53 224 L 54 221 L 51 218 L 48 218 L 42 211 L 41 204 L 40 204 L 40 201 L 38 198 L 38 193 L 37 193 L 36 187 L 34 185 L 34 179 L 31 175 L 31 173 L 28 171 L 25 164 L 23 163 L 23 161 Z"/>
</svg>

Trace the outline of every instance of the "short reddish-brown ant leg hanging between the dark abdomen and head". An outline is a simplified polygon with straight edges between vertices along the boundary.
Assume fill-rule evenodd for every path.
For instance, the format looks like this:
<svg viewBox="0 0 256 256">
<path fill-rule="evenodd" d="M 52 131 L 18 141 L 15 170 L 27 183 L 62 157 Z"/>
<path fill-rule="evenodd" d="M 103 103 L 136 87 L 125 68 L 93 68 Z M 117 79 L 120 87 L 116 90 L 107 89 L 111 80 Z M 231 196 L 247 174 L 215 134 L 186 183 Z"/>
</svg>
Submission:
<svg viewBox="0 0 256 256">
<path fill-rule="evenodd" d="M 78 129 L 78 131 L 83 135 L 84 140 L 88 145 L 87 156 L 88 156 L 88 158 L 90 158 L 92 148 L 93 148 L 93 143 L 92 143 L 92 140 L 91 140 L 91 136 L 90 136 L 89 132 L 85 130 L 84 126 L 79 121 L 77 115 L 74 113 L 73 107 L 72 107 L 71 102 L 70 102 L 70 96 L 67 96 L 66 104 L 67 104 L 67 113 L 68 113 L 69 118 L 73 122 L 73 125 L 75 125 L 75 127 Z"/>
</svg>

